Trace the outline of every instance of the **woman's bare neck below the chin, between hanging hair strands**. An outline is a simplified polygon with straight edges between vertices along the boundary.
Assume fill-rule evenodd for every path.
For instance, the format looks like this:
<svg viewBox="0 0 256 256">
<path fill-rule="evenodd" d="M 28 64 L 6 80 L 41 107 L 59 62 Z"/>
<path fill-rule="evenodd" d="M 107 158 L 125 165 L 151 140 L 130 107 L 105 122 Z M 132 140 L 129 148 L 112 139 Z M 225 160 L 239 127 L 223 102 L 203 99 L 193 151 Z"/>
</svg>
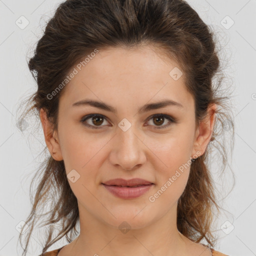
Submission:
<svg viewBox="0 0 256 256">
<path fill-rule="evenodd" d="M 176 205 L 161 218 L 144 224 L 141 219 L 136 222 L 133 218 L 130 221 L 114 219 L 118 224 L 110 225 L 84 209 L 80 208 L 79 212 L 80 234 L 72 242 L 70 255 L 189 255 L 187 242 L 190 240 L 177 230 Z"/>
</svg>

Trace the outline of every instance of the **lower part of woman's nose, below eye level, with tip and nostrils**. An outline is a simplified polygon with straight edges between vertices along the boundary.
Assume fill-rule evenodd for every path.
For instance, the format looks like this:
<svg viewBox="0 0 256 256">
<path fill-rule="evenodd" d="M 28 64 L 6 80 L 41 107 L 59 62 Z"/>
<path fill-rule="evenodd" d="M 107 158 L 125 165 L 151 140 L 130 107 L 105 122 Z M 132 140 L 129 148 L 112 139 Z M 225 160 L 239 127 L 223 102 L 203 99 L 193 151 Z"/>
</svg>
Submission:
<svg viewBox="0 0 256 256">
<path fill-rule="evenodd" d="M 118 128 L 109 155 L 111 164 L 124 170 L 132 170 L 145 163 L 147 147 L 142 140 L 142 136 L 132 125 L 126 131 Z"/>
</svg>

